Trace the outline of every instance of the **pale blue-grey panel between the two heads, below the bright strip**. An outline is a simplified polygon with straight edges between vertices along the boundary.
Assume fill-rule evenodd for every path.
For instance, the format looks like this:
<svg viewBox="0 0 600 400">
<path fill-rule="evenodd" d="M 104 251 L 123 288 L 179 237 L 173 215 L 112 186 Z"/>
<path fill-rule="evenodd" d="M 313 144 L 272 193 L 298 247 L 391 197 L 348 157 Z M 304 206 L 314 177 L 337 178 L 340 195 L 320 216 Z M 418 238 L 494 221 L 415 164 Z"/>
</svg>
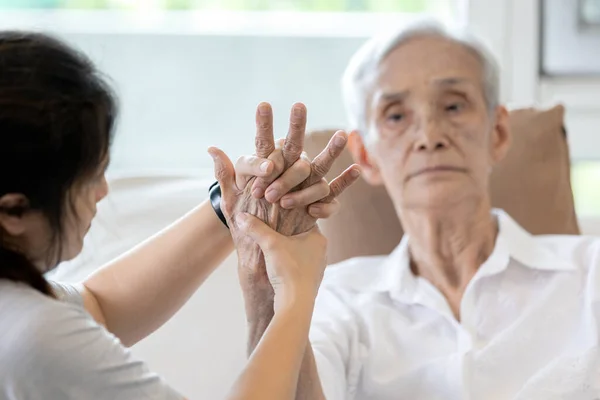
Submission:
<svg viewBox="0 0 600 400">
<path fill-rule="evenodd" d="M 69 35 L 120 94 L 113 170 L 209 168 L 210 145 L 232 157 L 254 143 L 261 101 L 276 136 L 302 101 L 309 127 L 344 127 L 339 80 L 357 38 Z"/>
</svg>

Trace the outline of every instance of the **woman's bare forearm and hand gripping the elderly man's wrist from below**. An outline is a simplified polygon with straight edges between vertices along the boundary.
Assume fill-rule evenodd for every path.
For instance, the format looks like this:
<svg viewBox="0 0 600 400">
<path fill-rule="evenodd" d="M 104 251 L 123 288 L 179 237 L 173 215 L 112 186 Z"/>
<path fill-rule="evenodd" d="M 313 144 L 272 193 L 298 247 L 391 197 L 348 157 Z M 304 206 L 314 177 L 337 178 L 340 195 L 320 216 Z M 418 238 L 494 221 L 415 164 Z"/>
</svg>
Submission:
<svg viewBox="0 0 600 400">
<path fill-rule="evenodd" d="M 275 315 L 228 399 L 293 400 L 305 351 L 310 348 L 308 331 L 327 264 L 327 240 L 318 228 L 287 237 L 248 214 L 239 214 L 237 221 L 240 232 L 263 251 Z M 318 375 L 314 379 L 320 387 Z"/>
</svg>

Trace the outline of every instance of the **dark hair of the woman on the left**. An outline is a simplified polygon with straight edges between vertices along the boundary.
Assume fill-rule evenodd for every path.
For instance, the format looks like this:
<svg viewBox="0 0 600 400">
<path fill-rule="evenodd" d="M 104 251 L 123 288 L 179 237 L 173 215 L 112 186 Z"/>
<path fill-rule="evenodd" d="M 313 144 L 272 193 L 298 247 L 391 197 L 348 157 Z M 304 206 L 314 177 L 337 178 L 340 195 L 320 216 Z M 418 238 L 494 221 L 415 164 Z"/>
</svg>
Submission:
<svg viewBox="0 0 600 400">
<path fill-rule="evenodd" d="M 0 197 L 28 200 L 26 209 L 0 212 L 41 212 L 59 259 L 71 189 L 98 173 L 116 114 L 113 92 L 85 55 L 44 34 L 0 31 Z M 52 296 L 42 271 L 5 234 L 0 229 L 0 279 Z"/>
</svg>

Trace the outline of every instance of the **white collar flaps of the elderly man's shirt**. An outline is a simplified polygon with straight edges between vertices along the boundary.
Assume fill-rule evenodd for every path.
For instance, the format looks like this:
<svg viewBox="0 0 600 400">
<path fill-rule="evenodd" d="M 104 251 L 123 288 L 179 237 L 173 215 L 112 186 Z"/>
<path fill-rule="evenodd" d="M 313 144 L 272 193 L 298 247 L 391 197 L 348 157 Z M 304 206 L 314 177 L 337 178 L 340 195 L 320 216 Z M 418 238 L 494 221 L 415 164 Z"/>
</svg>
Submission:
<svg viewBox="0 0 600 400">
<path fill-rule="evenodd" d="M 510 260 L 537 270 L 572 271 L 575 266 L 561 259 L 551 248 L 539 243 L 516 221 L 502 210 L 492 210 L 498 221 L 498 236 L 490 257 L 481 265 L 478 274 L 492 275 L 508 267 Z M 413 302 L 418 296 L 417 288 L 423 279 L 416 277 L 410 269 L 408 245 L 410 238 L 404 235 L 400 244 L 383 261 L 380 276 L 372 289 L 390 292 L 394 297 Z M 425 284 L 426 285 L 426 284 Z"/>
</svg>

